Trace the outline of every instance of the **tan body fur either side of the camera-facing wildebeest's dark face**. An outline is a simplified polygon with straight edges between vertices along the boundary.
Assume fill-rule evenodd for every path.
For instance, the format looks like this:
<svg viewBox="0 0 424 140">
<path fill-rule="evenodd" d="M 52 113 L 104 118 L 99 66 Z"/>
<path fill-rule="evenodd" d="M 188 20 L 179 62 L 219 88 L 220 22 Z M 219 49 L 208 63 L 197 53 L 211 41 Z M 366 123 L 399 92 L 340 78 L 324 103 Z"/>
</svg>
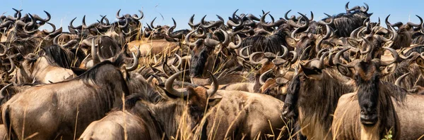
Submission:
<svg viewBox="0 0 424 140">
<path fill-rule="evenodd" d="M 360 115 L 358 98 L 356 93 L 345 94 L 338 101 L 334 112 L 333 125 L 331 126 L 334 139 L 360 139 Z M 422 95 L 406 95 L 406 101 L 402 105 L 394 103 L 394 110 L 399 115 L 401 132 L 399 139 L 418 139 L 424 134 L 422 127 L 424 118 Z M 394 101 L 392 99 L 392 101 Z M 385 135 L 385 132 L 383 132 Z M 392 131 L 393 134 L 393 131 Z M 378 137 L 378 136 L 377 136 Z"/>
</svg>

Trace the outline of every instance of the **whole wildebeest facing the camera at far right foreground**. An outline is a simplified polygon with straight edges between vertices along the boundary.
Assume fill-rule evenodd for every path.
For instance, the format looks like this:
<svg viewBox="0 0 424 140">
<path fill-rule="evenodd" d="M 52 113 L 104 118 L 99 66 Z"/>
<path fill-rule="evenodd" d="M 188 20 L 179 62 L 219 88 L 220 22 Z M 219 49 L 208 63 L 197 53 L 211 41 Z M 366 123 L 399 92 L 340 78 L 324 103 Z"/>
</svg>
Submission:
<svg viewBox="0 0 424 140">
<path fill-rule="evenodd" d="M 424 134 L 424 96 L 411 95 L 405 89 L 381 80 L 396 70 L 399 55 L 391 51 L 394 61 L 377 58 L 341 64 L 338 71 L 355 81 L 356 91 L 341 96 L 332 125 L 335 139 L 383 139 L 391 131 L 391 139 L 418 139 Z M 389 67 L 394 65 L 395 68 Z M 411 114 L 413 113 L 413 114 Z"/>
</svg>

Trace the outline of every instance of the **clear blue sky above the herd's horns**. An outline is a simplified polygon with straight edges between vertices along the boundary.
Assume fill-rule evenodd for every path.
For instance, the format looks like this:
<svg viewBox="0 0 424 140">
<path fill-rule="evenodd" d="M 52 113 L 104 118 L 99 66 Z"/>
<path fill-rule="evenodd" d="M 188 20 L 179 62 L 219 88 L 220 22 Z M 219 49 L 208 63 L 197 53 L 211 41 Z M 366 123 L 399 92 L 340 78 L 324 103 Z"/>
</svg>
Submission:
<svg viewBox="0 0 424 140">
<path fill-rule="evenodd" d="M 107 18 L 110 20 L 115 20 L 115 14 L 120 8 L 122 9 L 122 14 L 139 14 L 138 10 L 141 9 L 145 15 L 143 20 L 141 20 L 144 25 L 145 23 L 150 23 L 150 21 L 155 17 L 158 17 L 158 19 L 155 20 L 155 25 L 172 25 L 171 18 L 175 18 L 177 21 L 177 29 L 186 29 L 189 28 L 187 22 L 192 14 L 196 14 L 194 23 L 199 22 L 203 15 L 208 15 L 206 20 L 218 20 L 216 15 L 220 15 L 226 22 L 226 20 L 228 20 L 228 16 L 230 16 L 237 8 L 240 9 L 237 13 L 252 13 L 257 15 L 257 17 L 261 15 L 261 10 L 271 11 L 271 15 L 278 18 L 283 17 L 286 11 L 292 9 L 290 15 L 300 12 L 307 13 L 309 17 L 310 11 L 312 11 L 315 15 L 315 20 L 317 20 L 324 18 L 324 13 L 334 15 L 346 12 L 344 8 L 346 2 L 348 1 L 5 0 L 0 4 L 0 13 L 6 12 L 6 15 L 12 15 L 14 13 L 12 8 L 20 8 L 23 9 L 23 13 L 36 13 L 42 18 L 45 18 L 46 15 L 43 11 L 48 11 L 52 15 L 50 23 L 54 23 L 54 25 L 57 26 L 61 25 L 64 27 L 64 31 L 67 31 L 69 21 L 75 17 L 78 18 L 76 19 L 76 22 L 74 22 L 74 25 L 81 25 L 83 15 L 86 15 L 86 21 L 90 24 L 99 20 L 99 15 L 107 15 Z M 389 20 L 391 23 L 398 21 L 403 23 L 408 21 L 418 23 L 418 18 L 416 18 L 415 15 L 420 15 L 424 18 L 423 1 L 351 1 L 349 6 L 363 6 L 363 2 L 370 6 L 368 13 L 374 13 L 371 18 L 372 21 L 377 21 L 379 17 L 382 21 L 384 21 L 384 18 L 386 18 L 389 14 L 391 14 Z M 161 18 L 161 15 L 163 15 L 164 19 Z"/>
</svg>

